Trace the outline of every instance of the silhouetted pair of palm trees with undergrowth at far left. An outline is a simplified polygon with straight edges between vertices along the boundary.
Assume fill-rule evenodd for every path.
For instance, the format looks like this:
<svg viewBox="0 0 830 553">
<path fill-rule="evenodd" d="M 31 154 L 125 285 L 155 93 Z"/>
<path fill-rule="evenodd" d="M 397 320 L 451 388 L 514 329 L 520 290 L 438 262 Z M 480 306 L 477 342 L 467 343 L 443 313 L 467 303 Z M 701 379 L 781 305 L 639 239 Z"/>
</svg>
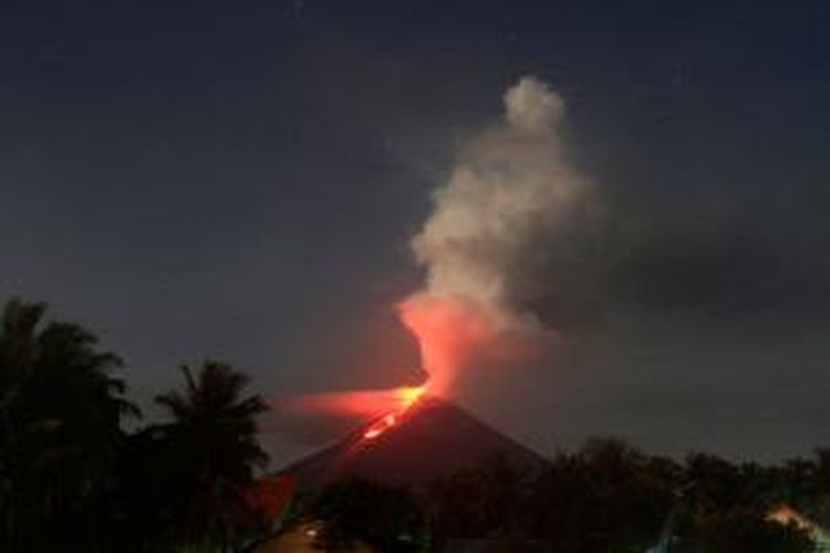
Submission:
<svg viewBox="0 0 830 553">
<path fill-rule="evenodd" d="M 128 432 L 118 357 L 44 314 L 13 300 L 0 321 L 0 551 L 222 551 L 256 531 L 264 406 L 246 378 L 185 366 L 185 389 L 157 397 L 167 421 Z"/>
</svg>

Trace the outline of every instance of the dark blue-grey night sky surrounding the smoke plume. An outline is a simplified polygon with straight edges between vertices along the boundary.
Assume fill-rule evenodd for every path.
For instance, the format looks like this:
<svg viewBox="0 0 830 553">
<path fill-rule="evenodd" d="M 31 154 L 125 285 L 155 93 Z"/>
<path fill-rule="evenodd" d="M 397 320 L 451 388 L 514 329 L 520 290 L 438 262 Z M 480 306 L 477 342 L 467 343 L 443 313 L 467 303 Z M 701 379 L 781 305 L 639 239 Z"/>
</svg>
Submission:
<svg viewBox="0 0 830 553">
<path fill-rule="evenodd" d="M 205 357 L 268 397 L 397 386 L 408 239 L 533 75 L 601 236 L 530 305 L 556 351 L 459 401 L 546 453 L 808 453 L 830 445 L 829 54 L 818 0 L 4 1 L 0 298 L 94 330 L 145 407 Z M 279 460 L 301 447 L 278 427 Z"/>
</svg>

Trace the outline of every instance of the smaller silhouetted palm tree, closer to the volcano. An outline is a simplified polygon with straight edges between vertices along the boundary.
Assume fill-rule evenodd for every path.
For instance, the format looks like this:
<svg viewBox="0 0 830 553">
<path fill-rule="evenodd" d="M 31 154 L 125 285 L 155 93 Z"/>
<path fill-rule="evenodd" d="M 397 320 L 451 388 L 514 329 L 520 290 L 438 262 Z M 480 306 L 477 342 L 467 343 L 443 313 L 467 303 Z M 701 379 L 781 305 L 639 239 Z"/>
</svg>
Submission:
<svg viewBox="0 0 830 553">
<path fill-rule="evenodd" d="M 159 430 L 170 489 L 181 498 L 178 534 L 186 543 L 227 545 L 248 511 L 253 470 L 267 461 L 256 422 L 267 408 L 258 395 L 242 396 L 248 378 L 229 365 L 205 362 L 198 372 L 187 365 L 181 372 L 185 388 L 156 397 L 173 418 Z"/>
</svg>

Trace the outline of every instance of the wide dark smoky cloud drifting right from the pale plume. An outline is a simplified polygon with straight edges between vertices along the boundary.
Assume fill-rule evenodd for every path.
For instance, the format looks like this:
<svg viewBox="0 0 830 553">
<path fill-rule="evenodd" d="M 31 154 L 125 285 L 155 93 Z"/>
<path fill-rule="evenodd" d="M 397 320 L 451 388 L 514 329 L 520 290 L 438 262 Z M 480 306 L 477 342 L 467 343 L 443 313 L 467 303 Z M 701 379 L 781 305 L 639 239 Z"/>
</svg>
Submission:
<svg viewBox="0 0 830 553">
<path fill-rule="evenodd" d="M 800 212 L 761 215 L 749 201 L 727 210 L 701 206 L 717 199 L 714 192 L 689 204 L 652 201 L 650 209 L 609 201 L 603 218 L 574 218 L 564 236 L 533 244 L 543 261 L 532 270 L 548 275 L 549 288 L 530 309 L 558 328 L 596 324 L 621 310 L 727 320 L 827 316 L 830 252 L 812 243 L 823 225 L 782 236 L 777 227 Z"/>
</svg>

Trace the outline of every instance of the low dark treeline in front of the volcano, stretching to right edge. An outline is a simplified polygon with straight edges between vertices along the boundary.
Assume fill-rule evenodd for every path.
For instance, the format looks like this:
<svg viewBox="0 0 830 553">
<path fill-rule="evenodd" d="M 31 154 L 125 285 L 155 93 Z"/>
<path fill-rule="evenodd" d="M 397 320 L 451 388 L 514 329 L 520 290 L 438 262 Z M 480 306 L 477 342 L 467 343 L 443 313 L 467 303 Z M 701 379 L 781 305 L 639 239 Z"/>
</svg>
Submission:
<svg viewBox="0 0 830 553">
<path fill-rule="evenodd" d="M 488 552 L 798 553 L 815 551 L 807 533 L 767 515 L 786 502 L 826 520 L 828 461 L 819 451 L 778 467 L 708 455 L 677 462 L 591 440 L 538 474 L 495 457 L 426 490 L 335 482 L 304 515 L 324 523 L 332 549 L 361 541 L 416 551 L 415 536 L 421 551 L 487 542 Z"/>
</svg>

